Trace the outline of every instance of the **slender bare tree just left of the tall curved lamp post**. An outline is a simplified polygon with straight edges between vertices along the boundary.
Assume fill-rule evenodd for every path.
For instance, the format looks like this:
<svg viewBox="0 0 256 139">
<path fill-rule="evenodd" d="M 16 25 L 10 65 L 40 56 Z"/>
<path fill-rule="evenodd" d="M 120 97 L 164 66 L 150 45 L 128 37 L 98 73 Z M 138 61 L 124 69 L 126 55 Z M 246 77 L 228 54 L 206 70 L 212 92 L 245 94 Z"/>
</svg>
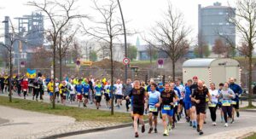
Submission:
<svg viewBox="0 0 256 139">
<path fill-rule="evenodd" d="M 95 38 L 99 42 L 108 43 L 108 49 L 110 52 L 111 61 L 111 86 L 113 87 L 113 43 L 118 41 L 118 37 L 122 35 L 122 24 L 117 16 L 116 10 L 118 9 L 118 3 L 115 0 L 109 0 L 108 3 L 99 5 L 97 0 L 94 0 L 94 7 L 96 11 L 102 17 L 102 20 L 95 21 L 96 26 L 86 29 L 84 24 L 85 34 L 92 38 Z M 111 102 L 111 114 L 113 114 L 113 90 L 110 91 L 112 96 Z"/>
</svg>

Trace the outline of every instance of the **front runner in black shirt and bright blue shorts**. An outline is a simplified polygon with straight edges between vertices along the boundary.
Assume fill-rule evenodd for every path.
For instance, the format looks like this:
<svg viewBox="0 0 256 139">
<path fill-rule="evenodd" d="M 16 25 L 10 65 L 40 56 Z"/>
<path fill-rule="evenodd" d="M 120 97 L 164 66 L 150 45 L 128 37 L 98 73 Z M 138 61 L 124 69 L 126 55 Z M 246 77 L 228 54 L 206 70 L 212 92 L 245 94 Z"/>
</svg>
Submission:
<svg viewBox="0 0 256 139">
<path fill-rule="evenodd" d="M 164 136 L 169 136 L 169 131 L 172 130 L 172 116 L 173 116 L 173 106 L 177 100 L 177 96 L 173 90 L 173 86 L 170 84 L 165 85 L 166 90 L 163 90 L 160 94 L 160 102 L 162 104 L 162 120 L 164 125 Z M 169 124 L 167 126 L 166 119 L 168 119 Z"/>
</svg>

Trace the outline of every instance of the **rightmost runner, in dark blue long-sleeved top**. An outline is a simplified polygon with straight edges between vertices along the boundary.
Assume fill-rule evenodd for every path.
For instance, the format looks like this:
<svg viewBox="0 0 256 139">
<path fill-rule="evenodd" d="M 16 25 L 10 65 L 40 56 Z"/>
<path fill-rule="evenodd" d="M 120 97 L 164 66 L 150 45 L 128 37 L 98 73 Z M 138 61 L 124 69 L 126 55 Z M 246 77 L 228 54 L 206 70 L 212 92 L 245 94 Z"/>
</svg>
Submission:
<svg viewBox="0 0 256 139">
<path fill-rule="evenodd" d="M 230 89 L 234 91 L 236 98 L 232 100 L 233 112 L 232 112 L 232 122 L 234 123 L 234 115 L 236 112 L 236 117 L 239 118 L 239 96 L 242 93 L 241 87 L 238 84 L 235 84 L 235 78 L 230 78 Z"/>
</svg>

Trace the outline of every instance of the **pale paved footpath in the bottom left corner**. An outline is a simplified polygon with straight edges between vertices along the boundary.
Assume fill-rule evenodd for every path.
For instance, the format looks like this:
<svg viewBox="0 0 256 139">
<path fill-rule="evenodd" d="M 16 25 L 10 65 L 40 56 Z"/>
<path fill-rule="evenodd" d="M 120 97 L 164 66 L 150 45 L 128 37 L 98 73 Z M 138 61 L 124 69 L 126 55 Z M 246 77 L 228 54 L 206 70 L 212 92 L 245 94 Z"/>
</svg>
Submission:
<svg viewBox="0 0 256 139">
<path fill-rule="evenodd" d="M 9 123 L 0 125 L 0 138 L 26 138 L 75 122 L 75 119 L 66 116 L 34 113 L 10 107 L 0 106 L 0 112 L 1 119 L 9 119 Z"/>
</svg>

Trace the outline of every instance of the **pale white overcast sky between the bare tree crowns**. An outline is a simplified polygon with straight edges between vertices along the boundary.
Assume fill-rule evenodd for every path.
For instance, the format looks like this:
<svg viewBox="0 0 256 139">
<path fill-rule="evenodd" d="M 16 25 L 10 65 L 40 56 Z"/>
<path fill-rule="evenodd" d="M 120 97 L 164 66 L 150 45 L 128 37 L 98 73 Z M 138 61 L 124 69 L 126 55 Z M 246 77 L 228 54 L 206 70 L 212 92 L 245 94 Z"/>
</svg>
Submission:
<svg viewBox="0 0 256 139">
<path fill-rule="evenodd" d="M 40 2 L 41 0 L 38 0 Z M 197 22 L 198 22 L 198 4 L 203 7 L 212 5 L 215 2 L 222 3 L 222 5 L 228 5 L 235 0 L 169 0 L 172 5 L 183 12 L 184 20 L 187 25 L 193 29 L 190 38 L 196 38 Z M 4 20 L 4 16 L 9 15 L 11 18 L 21 17 L 24 14 L 31 14 L 32 7 L 24 5 L 27 0 L 0 0 L 0 20 Z M 121 0 L 121 5 L 125 20 L 129 20 L 127 27 L 131 30 L 137 30 L 140 32 L 147 31 L 156 20 L 160 20 L 162 14 L 167 9 L 168 0 Z M 85 14 L 94 14 L 94 10 L 91 8 L 93 5 L 90 0 L 79 0 L 79 10 Z M 17 24 L 17 20 L 13 20 Z M 0 34 L 3 34 L 3 24 L 0 25 Z M 129 38 L 129 43 L 136 43 L 136 35 Z"/>
</svg>

